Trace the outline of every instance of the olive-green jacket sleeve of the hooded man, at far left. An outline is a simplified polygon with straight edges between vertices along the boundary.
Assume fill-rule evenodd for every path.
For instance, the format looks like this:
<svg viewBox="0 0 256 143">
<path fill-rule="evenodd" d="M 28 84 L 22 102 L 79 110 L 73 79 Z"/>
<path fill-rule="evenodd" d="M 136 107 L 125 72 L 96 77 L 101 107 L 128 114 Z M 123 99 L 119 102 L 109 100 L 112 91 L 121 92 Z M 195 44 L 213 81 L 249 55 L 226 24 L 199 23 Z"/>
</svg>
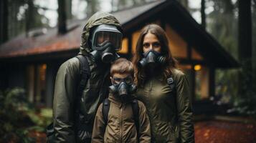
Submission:
<svg viewBox="0 0 256 143">
<path fill-rule="evenodd" d="M 63 63 L 57 72 L 53 102 L 56 142 L 75 142 L 74 102 L 79 71 L 79 61 L 73 58 Z"/>
</svg>

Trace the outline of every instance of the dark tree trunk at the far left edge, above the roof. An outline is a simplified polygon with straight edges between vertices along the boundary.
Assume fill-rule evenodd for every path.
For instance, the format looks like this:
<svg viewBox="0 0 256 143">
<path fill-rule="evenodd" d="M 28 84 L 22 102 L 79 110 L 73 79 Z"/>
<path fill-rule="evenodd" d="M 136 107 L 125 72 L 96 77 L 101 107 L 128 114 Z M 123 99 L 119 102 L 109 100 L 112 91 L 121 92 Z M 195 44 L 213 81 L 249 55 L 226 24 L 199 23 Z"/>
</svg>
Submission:
<svg viewBox="0 0 256 143">
<path fill-rule="evenodd" d="M 8 0 L 0 1 L 0 44 L 8 40 Z"/>
</svg>

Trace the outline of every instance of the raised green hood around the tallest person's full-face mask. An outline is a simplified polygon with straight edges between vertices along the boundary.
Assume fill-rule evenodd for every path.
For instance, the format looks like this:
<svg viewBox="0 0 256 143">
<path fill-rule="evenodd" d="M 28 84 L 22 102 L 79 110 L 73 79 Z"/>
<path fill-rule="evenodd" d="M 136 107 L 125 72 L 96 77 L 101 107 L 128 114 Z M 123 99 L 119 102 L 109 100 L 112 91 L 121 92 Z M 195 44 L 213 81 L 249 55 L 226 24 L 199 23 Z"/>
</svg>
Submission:
<svg viewBox="0 0 256 143">
<path fill-rule="evenodd" d="M 90 36 L 90 30 L 94 26 L 98 26 L 100 24 L 110 24 L 118 27 L 118 30 L 123 33 L 123 30 L 120 26 L 120 22 L 118 19 L 115 19 L 113 14 L 108 14 L 107 12 L 98 11 L 97 13 L 93 14 L 90 19 L 87 20 L 84 28 L 82 29 L 82 41 L 80 44 L 80 54 L 88 54 L 92 51 L 90 44 L 88 44 L 88 39 Z"/>
</svg>

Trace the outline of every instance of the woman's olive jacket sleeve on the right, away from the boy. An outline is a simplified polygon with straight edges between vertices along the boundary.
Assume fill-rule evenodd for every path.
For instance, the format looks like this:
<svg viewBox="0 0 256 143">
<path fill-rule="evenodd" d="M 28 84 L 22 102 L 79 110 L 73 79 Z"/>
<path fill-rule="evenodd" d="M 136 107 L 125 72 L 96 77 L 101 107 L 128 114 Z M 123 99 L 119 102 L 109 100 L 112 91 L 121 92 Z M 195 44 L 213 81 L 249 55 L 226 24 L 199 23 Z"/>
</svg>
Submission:
<svg viewBox="0 0 256 143">
<path fill-rule="evenodd" d="M 194 142 L 194 125 L 191 121 L 189 82 L 182 72 L 176 77 L 176 105 L 180 127 L 181 142 Z"/>
</svg>

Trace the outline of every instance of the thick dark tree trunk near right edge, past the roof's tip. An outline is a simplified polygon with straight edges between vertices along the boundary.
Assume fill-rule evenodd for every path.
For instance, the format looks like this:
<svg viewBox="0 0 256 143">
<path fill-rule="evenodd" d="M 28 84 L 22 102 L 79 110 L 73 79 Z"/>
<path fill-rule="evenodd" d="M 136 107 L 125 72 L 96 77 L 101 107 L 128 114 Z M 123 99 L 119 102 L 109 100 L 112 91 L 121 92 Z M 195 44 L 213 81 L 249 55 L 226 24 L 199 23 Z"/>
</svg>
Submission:
<svg viewBox="0 0 256 143">
<path fill-rule="evenodd" d="M 240 74 L 240 95 L 252 90 L 252 15 L 251 0 L 238 1 L 238 41 L 239 59 L 242 64 Z"/>
</svg>

